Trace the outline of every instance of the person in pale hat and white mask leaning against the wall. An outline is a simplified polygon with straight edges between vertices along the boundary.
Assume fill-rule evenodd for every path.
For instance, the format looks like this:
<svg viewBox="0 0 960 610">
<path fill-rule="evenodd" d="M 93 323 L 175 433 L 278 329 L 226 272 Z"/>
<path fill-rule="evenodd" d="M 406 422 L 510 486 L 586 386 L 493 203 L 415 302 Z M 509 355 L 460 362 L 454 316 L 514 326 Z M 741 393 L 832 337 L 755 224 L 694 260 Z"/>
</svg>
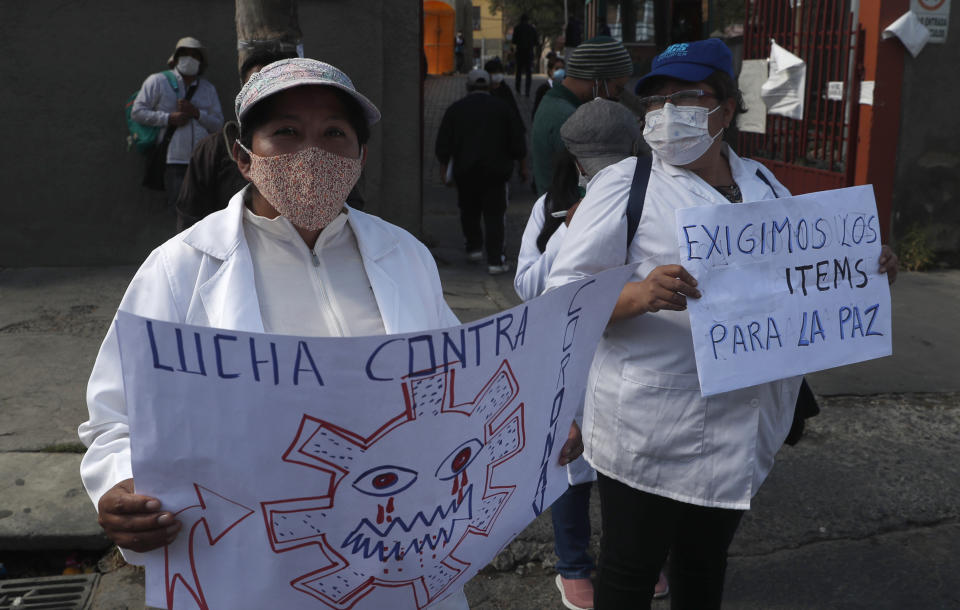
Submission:
<svg viewBox="0 0 960 610">
<path fill-rule="evenodd" d="M 141 125 L 173 129 L 166 155 L 163 188 L 167 203 L 175 207 L 194 147 L 207 134 L 223 126 L 220 98 L 210 81 L 201 78 L 207 69 L 203 45 L 191 36 L 181 38 L 167 59 L 177 89 L 163 72 L 151 74 L 133 101 L 130 117 Z"/>
</svg>

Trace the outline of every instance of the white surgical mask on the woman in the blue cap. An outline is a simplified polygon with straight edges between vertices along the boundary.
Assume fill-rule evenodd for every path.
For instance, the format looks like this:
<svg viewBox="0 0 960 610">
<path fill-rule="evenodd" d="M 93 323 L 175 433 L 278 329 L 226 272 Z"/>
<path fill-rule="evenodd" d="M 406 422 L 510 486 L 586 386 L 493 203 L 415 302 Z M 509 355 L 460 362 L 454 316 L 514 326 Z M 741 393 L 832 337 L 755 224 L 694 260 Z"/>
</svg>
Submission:
<svg viewBox="0 0 960 610">
<path fill-rule="evenodd" d="M 723 129 L 710 135 L 710 115 L 719 110 L 703 106 L 674 106 L 667 102 L 646 114 L 643 139 L 670 165 L 686 165 L 703 156 Z"/>
</svg>

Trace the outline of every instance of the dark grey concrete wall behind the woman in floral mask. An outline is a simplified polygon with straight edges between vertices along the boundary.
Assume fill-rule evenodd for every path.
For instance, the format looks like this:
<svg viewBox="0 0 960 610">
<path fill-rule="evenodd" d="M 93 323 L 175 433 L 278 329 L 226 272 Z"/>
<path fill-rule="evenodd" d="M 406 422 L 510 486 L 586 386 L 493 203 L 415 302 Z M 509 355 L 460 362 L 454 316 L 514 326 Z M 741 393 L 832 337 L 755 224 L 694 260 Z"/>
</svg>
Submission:
<svg viewBox="0 0 960 610">
<path fill-rule="evenodd" d="M 362 184 L 367 211 L 419 233 L 417 11 L 390 0 L 299 5 L 305 54 L 342 68 L 383 112 Z M 207 46 L 205 76 L 233 117 L 233 0 L 4 2 L 0 266 L 137 263 L 173 234 L 163 194 L 140 187 L 123 104 L 185 35 Z"/>
</svg>

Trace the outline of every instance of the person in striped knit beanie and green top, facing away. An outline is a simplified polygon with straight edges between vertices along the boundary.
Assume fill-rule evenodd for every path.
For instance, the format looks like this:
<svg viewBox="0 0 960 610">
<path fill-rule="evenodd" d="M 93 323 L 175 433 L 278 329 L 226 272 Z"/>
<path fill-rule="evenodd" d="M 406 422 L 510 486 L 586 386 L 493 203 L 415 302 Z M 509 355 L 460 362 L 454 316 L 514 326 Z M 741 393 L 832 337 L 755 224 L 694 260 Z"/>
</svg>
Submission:
<svg viewBox="0 0 960 610">
<path fill-rule="evenodd" d="M 598 36 L 570 55 L 563 82 L 543 96 L 533 118 L 531 149 L 537 195 L 546 192 L 553 179 L 553 158 L 561 148 L 560 127 L 580 104 L 602 97 L 620 99 L 633 74 L 633 60 L 622 43 Z"/>
</svg>

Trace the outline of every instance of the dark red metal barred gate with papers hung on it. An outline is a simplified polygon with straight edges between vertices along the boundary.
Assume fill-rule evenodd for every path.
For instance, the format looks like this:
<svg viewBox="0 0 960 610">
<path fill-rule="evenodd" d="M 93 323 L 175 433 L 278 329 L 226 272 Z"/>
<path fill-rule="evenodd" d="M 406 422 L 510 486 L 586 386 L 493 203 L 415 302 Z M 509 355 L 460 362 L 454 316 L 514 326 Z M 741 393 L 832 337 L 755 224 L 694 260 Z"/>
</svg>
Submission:
<svg viewBox="0 0 960 610">
<path fill-rule="evenodd" d="M 863 51 L 850 0 L 747 0 L 744 59 L 770 41 L 807 64 L 802 120 L 767 115 L 765 134 L 741 133 L 739 152 L 767 165 L 794 194 L 853 185 Z M 828 83 L 842 83 L 842 99 Z M 831 96 L 832 97 L 832 96 Z"/>
</svg>

